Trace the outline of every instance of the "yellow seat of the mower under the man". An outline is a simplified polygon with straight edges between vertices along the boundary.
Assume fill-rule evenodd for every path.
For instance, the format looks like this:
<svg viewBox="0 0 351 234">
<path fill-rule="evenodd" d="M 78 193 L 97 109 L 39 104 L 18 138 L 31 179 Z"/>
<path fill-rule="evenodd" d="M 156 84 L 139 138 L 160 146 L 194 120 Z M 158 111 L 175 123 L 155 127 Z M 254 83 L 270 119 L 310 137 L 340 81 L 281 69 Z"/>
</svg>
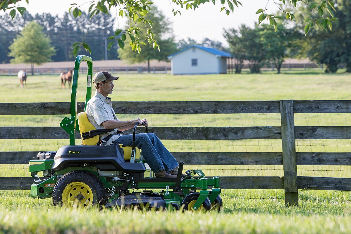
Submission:
<svg viewBox="0 0 351 234">
<path fill-rule="evenodd" d="M 89 132 L 91 130 L 96 130 L 96 128 L 90 123 L 86 112 L 85 111 L 80 112 L 77 118 L 78 118 L 80 137 L 82 138 L 82 145 L 96 145 L 100 140 L 99 135 L 96 135 L 89 139 L 83 139 L 82 133 Z M 124 159 L 130 160 L 132 146 L 122 146 L 121 144 L 120 147 L 123 149 Z M 140 159 L 140 149 L 138 149 L 137 147 L 135 147 L 135 159 Z"/>
</svg>

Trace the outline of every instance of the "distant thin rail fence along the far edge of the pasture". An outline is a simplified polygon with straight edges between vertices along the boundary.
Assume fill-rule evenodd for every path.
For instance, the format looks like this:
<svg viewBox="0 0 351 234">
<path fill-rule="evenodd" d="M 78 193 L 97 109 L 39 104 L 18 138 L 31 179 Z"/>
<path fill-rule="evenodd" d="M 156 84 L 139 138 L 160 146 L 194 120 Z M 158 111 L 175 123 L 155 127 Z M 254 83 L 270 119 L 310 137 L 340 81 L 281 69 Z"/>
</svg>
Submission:
<svg viewBox="0 0 351 234">
<path fill-rule="evenodd" d="M 310 69 L 310 68 L 320 68 L 323 69 L 323 64 L 316 64 L 316 63 L 284 63 L 281 69 Z M 60 75 L 61 72 L 67 72 L 69 69 L 73 68 L 34 68 L 34 75 Z M 147 67 L 93 67 L 94 72 L 96 71 L 109 71 L 112 73 L 147 73 Z M 235 70 L 234 64 L 227 64 L 228 73 L 232 73 L 231 71 Z M 249 64 L 244 64 L 243 69 L 249 69 Z M 274 66 L 269 67 L 267 65 L 261 67 L 261 69 L 271 69 L 276 70 Z M 9 75 L 9 76 L 16 76 L 19 68 L 11 68 L 11 69 L 0 69 L 0 75 Z M 83 67 L 80 68 L 80 73 L 86 73 L 87 68 Z M 171 71 L 170 66 L 152 66 L 150 67 L 150 73 L 167 73 Z M 27 73 L 31 74 L 31 69 L 27 69 Z"/>
</svg>

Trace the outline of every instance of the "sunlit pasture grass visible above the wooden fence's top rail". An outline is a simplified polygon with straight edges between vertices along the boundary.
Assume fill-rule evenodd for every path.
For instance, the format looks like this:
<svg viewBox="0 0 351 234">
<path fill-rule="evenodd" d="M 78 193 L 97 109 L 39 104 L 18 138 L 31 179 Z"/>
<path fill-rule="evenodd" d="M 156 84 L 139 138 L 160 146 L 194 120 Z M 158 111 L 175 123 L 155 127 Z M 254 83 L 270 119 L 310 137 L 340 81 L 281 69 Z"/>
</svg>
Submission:
<svg viewBox="0 0 351 234">
<path fill-rule="evenodd" d="M 113 74 L 113 101 L 232 101 L 349 99 L 350 74 L 324 74 L 322 70 L 275 74 Z M 85 101 L 86 74 L 79 76 L 78 101 Z M 1 102 L 68 102 L 71 90 L 61 89 L 58 75 L 28 76 L 20 89 L 16 76 L 0 76 Z M 6 85 L 5 85 L 6 84 Z"/>
</svg>

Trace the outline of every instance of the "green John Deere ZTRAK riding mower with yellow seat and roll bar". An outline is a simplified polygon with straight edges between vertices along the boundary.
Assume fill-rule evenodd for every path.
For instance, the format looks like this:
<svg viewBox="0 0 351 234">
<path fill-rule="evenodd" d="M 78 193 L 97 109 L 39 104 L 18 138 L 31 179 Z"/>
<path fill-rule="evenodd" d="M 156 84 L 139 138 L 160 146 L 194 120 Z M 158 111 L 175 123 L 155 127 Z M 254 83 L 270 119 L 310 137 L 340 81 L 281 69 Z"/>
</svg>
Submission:
<svg viewBox="0 0 351 234">
<path fill-rule="evenodd" d="M 57 152 L 39 152 L 37 159 L 29 161 L 34 179 L 31 196 L 52 197 L 54 205 L 84 209 L 99 206 L 220 211 L 219 177 L 205 178 L 201 170 L 188 170 L 183 178 L 184 163 L 180 162 L 177 178 L 154 178 L 137 147 L 114 143 L 97 145 L 98 135 L 111 129 L 96 130 L 85 112 L 77 115 L 81 61 L 88 65 L 85 106 L 91 98 L 92 59 L 78 55 L 72 82 L 71 118 L 66 117 L 60 123 L 69 134 L 70 145 L 60 147 Z M 136 128 L 137 124 L 133 135 Z M 81 134 L 82 145 L 75 145 L 75 130 Z M 156 190 L 158 192 L 154 192 Z"/>
</svg>

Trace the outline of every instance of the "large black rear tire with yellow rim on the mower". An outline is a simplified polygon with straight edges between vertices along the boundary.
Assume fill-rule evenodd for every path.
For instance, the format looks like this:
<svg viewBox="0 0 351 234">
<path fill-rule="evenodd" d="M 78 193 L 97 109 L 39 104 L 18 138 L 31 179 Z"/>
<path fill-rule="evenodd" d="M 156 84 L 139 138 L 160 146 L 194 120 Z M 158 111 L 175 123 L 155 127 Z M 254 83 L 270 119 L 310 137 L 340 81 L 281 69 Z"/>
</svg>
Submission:
<svg viewBox="0 0 351 234">
<path fill-rule="evenodd" d="M 54 206 L 88 209 L 107 204 L 107 195 L 100 179 L 87 171 L 66 173 L 57 181 L 52 201 Z"/>
</svg>

